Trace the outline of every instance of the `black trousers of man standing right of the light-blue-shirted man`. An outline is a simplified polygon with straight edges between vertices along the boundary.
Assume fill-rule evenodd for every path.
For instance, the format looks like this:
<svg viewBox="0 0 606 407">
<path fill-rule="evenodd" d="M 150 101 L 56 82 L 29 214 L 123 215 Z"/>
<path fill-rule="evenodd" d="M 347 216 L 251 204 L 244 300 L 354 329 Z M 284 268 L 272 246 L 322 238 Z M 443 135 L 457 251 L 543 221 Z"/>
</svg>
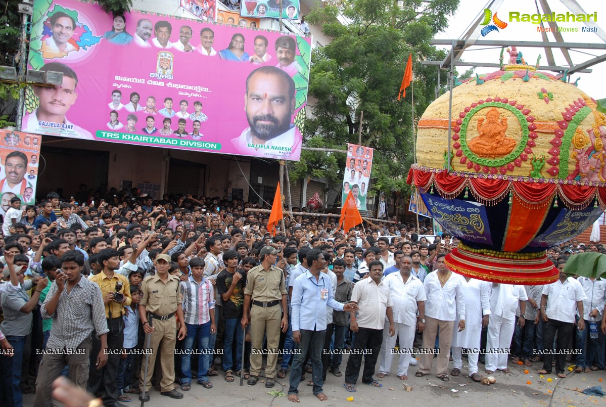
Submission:
<svg viewBox="0 0 606 407">
<path fill-rule="evenodd" d="M 364 357 L 362 383 L 372 383 L 375 381 L 373 374 L 375 374 L 375 367 L 377 359 L 379 358 L 379 352 L 381 351 L 382 341 L 382 329 L 358 329 L 353 341 L 353 346 L 351 346 L 351 354 L 347 360 L 345 383 L 355 385 L 356 382 L 358 382 L 360 367 L 362 366 L 362 357 Z M 364 352 L 364 354 L 362 354 L 362 352 Z"/>
</svg>

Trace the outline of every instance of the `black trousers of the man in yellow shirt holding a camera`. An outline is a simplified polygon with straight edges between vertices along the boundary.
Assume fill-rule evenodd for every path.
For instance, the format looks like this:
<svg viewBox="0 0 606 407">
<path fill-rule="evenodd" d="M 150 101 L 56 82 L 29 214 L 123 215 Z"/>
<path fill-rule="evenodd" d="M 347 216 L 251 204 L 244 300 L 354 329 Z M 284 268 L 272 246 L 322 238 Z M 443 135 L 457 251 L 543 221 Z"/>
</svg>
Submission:
<svg viewBox="0 0 606 407">
<path fill-rule="evenodd" d="M 90 368 L 88 371 L 87 391 L 95 394 L 98 391 L 105 391 L 103 395 L 103 404 L 106 406 L 114 405 L 118 402 L 120 392 L 118 390 L 118 366 L 120 365 L 121 354 L 124 346 L 124 320 L 122 317 L 108 319 L 107 328 L 107 365 L 103 369 L 97 369 L 97 356 L 101 351 L 101 340 L 97 338 L 97 332 L 92 333 L 93 348 L 90 352 Z"/>
</svg>

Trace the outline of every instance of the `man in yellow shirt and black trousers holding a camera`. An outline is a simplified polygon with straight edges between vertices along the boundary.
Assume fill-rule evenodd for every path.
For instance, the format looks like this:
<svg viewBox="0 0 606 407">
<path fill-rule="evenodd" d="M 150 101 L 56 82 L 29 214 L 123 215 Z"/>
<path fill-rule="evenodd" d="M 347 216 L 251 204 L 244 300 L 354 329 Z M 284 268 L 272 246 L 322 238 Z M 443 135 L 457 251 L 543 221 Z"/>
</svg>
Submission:
<svg viewBox="0 0 606 407">
<path fill-rule="evenodd" d="M 124 320 L 125 314 L 132 298 L 130 297 L 130 284 L 128 278 L 118 274 L 120 268 L 120 253 L 116 249 L 103 249 L 99 252 L 99 263 L 103 271 L 93 275 L 90 281 L 101 288 L 101 295 L 105 304 L 105 318 L 107 318 L 107 365 L 103 369 L 97 369 L 93 363 L 93 355 L 101 349 L 101 341 L 93 335 L 93 351 L 91 352 L 90 370 L 88 371 L 88 392 L 96 394 L 97 391 L 105 391 L 103 404 L 105 406 L 121 407 L 118 402 L 120 395 L 118 391 L 118 365 L 124 345 Z M 96 357 L 96 356 L 95 356 Z"/>
</svg>

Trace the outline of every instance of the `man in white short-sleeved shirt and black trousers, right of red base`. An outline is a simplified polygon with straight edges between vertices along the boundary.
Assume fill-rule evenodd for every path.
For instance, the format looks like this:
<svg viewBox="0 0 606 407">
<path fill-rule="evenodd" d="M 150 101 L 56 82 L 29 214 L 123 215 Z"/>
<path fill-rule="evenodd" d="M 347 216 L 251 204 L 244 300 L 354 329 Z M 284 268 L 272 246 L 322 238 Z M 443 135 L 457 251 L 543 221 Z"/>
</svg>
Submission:
<svg viewBox="0 0 606 407">
<path fill-rule="evenodd" d="M 587 299 L 579 281 L 568 277 L 564 272 L 565 260 L 558 261 L 559 279 L 555 283 L 545 284 L 541 295 L 541 318 L 545 322 L 543 334 L 544 350 L 543 368 L 539 374 L 551 373 L 551 361 L 553 360 L 553 338 L 558 332 L 556 341 L 556 374 L 564 378 L 566 368 L 566 355 L 568 343 L 574 332 L 574 314 L 579 311 L 583 314 L 583 301 Z M 579 320 L 578 328 L 585 329 L 585 320 Z"/>
</svg>

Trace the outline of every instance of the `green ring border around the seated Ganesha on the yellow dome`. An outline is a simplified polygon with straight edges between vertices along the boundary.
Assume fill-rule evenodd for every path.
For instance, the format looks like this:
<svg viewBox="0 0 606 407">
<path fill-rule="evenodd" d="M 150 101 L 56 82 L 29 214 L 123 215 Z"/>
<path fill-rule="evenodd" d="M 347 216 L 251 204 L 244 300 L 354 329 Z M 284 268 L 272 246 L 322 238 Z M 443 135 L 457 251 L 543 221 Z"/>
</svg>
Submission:
<svg viewBox="0 0 606 407">
<path fill-rule="evenodd" d="M 467 147 L 467 126 L 469 124 L 469 121 L 471 120 L 471 117 L 474 114 L 478 113 L 480 110 L 490 106 L 502 107 L 503 109 L 509 110 L 511 113 L 514 114 L 514 116 L 518 118 L 520 126 L 522 127 L 522 139 L 520 140 L 518 147 L 516 147 L 513 152 L 509 153 L 504 158 L 499 158 L 498 160 L 488 160 L 487 158 L 481 158 L 471 152 L 469 147 Z M 515 106 L 511 106 L 510 104 L 501 102 L 485 102 L 480 106 L 474 107 L 469 111 L 469 113 L 467 113 L 467 115 L 465 115 L 463 123 L 461 124 L 461 132 L 459 132 L 459 143 L 461 143 L 461 149 L 463 150 L 465 156 L 467 156 L 467 158 L 473 163 L 477 163 L 487 167 L 501 167 L 505 164 L 511 163 L 511 161 L 518 158 L 518 156 L 524 151 L 524 149 L 526 148 L 526 143 L 528 142 L 528 133 L 528 121 L 526 120 L 526 116 L 524 116 L 524 113 L 520 112 Z"/>
</svg>

